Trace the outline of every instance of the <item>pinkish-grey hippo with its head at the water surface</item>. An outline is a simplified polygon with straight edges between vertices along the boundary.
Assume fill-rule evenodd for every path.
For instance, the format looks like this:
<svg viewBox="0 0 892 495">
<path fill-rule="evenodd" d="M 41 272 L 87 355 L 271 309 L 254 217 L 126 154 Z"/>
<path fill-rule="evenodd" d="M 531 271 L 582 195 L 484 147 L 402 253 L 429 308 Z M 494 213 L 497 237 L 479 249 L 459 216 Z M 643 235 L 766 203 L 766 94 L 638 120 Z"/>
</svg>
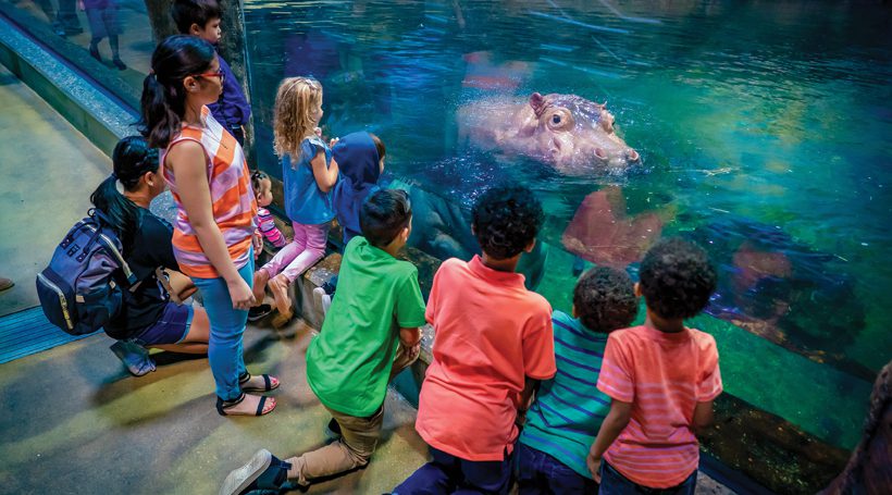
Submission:
<svg viewBox="0 0 892 495">
<path fill-rule="evenodd" d="M 641 156 L 619 137 L 607 102 L 534 92 L 528 102 L 482 100 L 458 110 L 459 139 L 542 161 L 560 173 L 623 173 Z"/>
</svg>

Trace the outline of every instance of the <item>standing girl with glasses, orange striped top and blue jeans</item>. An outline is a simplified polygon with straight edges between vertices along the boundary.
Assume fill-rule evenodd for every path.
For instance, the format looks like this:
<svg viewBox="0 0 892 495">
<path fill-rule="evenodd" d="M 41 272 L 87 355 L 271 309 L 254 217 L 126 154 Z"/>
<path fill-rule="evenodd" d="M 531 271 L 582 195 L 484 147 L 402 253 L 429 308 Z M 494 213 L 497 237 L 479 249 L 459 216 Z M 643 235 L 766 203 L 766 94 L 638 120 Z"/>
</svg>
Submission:
<svg viewBox="0 0 892 495">
<path fill-rule="evenodd" d="M 211 322 L 208 360 L 220 414 L 261 416 L 275 399 L 278 380 L 251 376 L 241 336 L 253 302 L 251 237 L 257 201 L 241 146 L 207 104 L 220 97 L 223 74 L 213 46 L 194 36 L 171 36 L 151 59 L 143 85 L 143 135 L 161 148 L 164 178 L 177 207 L 176 261 L 201 290 Z"/>
</svg>

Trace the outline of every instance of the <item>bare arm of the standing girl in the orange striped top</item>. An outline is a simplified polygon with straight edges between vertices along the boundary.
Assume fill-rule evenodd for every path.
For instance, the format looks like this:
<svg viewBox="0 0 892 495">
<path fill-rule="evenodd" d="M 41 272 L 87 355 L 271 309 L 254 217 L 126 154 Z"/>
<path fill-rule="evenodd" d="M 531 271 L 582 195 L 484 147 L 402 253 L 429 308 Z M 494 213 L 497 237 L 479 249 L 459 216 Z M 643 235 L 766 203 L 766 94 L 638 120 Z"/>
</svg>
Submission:
<svg viewBox="0 0 892 495">
<path fill-rule="evenodd" d="M 250 308 L 255 302 L 253 294 L 230 258 L 223 233 L 213 218 L 205 149 L 196 141 L 185 140 L 170 150 L 166 160 L 176 175 L 179 199 L 198 236 L 201 250 L 226 282 L 233 308 Z"/>
</svg>

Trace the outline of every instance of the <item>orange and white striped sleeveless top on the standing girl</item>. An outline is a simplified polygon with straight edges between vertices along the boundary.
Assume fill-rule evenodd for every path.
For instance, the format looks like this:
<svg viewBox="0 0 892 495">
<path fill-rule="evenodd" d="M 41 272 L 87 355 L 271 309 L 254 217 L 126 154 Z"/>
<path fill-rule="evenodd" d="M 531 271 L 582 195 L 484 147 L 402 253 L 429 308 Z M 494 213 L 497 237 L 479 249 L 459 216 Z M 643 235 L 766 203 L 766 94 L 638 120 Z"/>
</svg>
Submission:
<svg viewBox="0 0 892 495">
<path fill-rule="evenodd" d="M 177 143 L 196 141 L 205 149 L 208 158 L 208 184 L 210 185 L 213 219 L 223 234 L 223 240 L 235 267 L 240 269 L 250 257 L 251 235 L 255 231 L 257 200 L 251 188 L 250 173 L 245 162 L 245 152 L 235 137 L 211 116 L 207 107 L 201 109 L 201 127 L 184 125 L 183 131 L 168 145 L 161 157 Z M 173 251 L 183 273 L 197 279 L 220 276 L 205 255 L 198 235 L 189 223 L 189 216 L 179 200 L 176 177 L 166 166 L 164 178 L 171 187 L 176 202 L 177 214 L 174 222 Z"/>
</svg>

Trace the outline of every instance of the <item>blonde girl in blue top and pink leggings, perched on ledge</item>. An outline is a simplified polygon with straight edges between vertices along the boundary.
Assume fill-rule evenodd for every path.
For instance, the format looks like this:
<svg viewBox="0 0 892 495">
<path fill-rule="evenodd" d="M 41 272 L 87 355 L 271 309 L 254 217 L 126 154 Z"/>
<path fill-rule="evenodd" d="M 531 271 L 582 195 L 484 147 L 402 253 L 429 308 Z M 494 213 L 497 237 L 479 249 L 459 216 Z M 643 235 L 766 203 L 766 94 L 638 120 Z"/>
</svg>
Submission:
<svg viewBox="0 0 892 495">
<path fill-rule="evenodd" d="M 288 287 L 325 255 L 329 224 L 334 218 L 331 189 L 337 183 L 337 163 L 319 136 L 322 85 L 309 77 L 288 77 L 275 97 L 274 144 L 282 158 L 285 211 L 294 225 L 294 240 L 255 273 L 253 295 L 262 302 L 265 286 L 275 299 L 282 326 L 293 315 Z"/>
</svg>

